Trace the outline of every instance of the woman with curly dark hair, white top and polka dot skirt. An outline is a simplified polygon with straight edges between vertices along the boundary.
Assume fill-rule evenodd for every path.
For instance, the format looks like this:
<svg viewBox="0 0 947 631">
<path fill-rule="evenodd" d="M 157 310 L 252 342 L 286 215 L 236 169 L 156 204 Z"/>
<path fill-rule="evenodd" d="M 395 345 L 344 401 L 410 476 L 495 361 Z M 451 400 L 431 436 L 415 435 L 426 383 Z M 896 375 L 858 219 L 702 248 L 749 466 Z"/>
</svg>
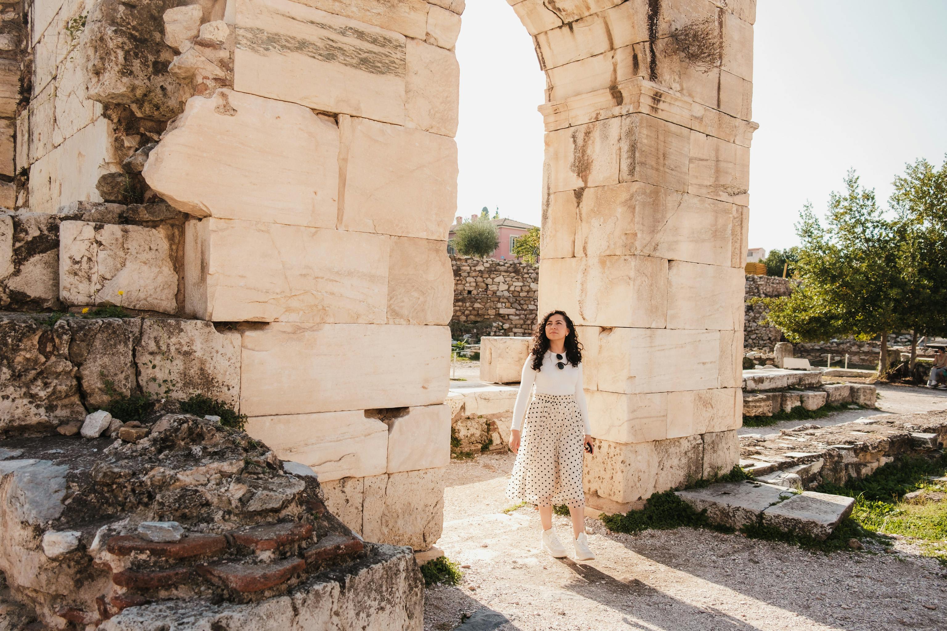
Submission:
<svg viewBox="0 0 947 631">
<path fill-rule="evenodd" d="M 585 536 L 582 448 L 592 450 L 589 414 L 582 393 L 582 345 L 563 311 L 551 311 L 536 326 L 532 353 L 523 364 L 520 392 L 513 407 L 509 448 L 516 454 L 510 499 L 539 506 L 542 548 L 555 557 L 565 547 L 552 530 L 552 507 L 566 504 L 572 516 L 577 561 L 595 558 Z M 527 398 L 533 385 L 536 394 Z M 522 444 L 520 429 L 523 429 Z"/>
</svg>

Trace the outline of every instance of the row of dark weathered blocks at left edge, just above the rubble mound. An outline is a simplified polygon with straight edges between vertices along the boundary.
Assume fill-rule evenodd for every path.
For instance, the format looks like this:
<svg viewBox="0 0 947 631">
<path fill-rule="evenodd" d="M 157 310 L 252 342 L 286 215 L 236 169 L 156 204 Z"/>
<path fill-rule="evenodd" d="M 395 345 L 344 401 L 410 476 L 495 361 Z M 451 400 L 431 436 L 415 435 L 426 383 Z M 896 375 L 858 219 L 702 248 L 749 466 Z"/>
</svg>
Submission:
<svg viewBox="0 0 947 631">
<path fill-rule="evenodd" d="M 237 410 L 239 335 L 197 320 L 0 315 L 0 436 L 52 433 L 133 394 Z"/>
</svg>

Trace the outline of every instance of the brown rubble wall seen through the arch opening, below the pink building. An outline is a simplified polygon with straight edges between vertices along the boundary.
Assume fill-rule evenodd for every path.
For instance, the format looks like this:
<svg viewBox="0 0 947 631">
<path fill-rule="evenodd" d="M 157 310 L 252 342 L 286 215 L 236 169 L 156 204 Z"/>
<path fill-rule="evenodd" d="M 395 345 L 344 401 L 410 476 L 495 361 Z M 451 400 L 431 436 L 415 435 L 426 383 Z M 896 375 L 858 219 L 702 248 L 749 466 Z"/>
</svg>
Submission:
<svg viewBox="0 0 947 631">
<path fill-rule="evenodd" d="M 524 336 L 536 324 L 539 268 L 519 261 L 451 256 L 454 337 Z"/>
</svg>

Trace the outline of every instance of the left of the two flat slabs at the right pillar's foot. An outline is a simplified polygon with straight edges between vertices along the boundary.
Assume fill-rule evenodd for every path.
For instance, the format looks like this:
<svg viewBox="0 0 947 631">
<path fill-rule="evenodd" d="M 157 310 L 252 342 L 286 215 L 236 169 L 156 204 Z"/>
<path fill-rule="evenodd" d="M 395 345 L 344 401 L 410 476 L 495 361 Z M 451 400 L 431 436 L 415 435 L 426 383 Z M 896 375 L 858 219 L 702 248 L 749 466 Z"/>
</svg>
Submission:
<svg viewBox="0 0 947 631">
<path fill-rule="evenodd" d="M 706 488 L 678 491 L 676 495 L 694 510 L 706 509 L 707 518 L 714 523 L 741 528 L 755 523 L 760 513 L 772 504 L 792 497 L 794 492 L 783 486 L 760 482 L 723 482 Z"/>
</svg>

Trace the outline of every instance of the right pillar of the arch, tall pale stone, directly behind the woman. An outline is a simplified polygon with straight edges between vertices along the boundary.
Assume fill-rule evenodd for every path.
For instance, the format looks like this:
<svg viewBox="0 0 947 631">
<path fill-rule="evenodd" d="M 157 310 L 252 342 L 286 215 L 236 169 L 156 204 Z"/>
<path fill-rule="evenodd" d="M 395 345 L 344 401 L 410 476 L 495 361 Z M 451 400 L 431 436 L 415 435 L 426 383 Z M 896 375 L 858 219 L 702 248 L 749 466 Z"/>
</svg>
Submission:
<svg viewBox="0 0 947 631">
<path fill-rule="evenodd" d="M 511 4 L 548 78 L 539 313 L 579 325 L 586 501 L 623 511 L 739 459 L 756 3 Z"/>
</svg>

